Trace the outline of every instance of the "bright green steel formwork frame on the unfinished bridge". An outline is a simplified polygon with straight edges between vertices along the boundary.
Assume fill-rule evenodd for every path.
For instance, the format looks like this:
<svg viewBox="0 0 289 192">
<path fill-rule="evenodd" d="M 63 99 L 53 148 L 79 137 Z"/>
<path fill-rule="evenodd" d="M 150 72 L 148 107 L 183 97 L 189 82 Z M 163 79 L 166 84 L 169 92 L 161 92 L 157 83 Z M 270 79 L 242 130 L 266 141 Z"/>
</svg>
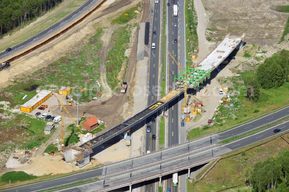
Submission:
<svg viewBox="0 0 289 192">
<path fill-rule="evenodd" d="M 185 73 L 181 71 L 181 74 L 178 75 L 176 78 L 175 76 L 175 84 L 184 87 L 184 84 L 194 84 L 194 89 L 196 89 L 197 86 L 200 86 L 200 84 L 203 83 L 206 79 L 210 78 L 210 69 L 203 70 L 198 68 L 192 68 L 188 67 L 188 69 L 185 69 Z"/>
</svg>

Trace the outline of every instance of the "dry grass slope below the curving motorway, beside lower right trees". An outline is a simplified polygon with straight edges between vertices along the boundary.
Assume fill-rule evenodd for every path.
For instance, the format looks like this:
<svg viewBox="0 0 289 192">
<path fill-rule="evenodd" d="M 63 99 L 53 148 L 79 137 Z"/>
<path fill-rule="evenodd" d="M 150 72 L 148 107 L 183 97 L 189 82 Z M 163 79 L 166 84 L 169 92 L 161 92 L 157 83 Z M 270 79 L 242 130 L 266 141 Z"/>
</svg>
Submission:
<svg viewBox="0 0 289 192">
<path fill-rule="evenodd" d="M 289 134 L 285 135 L 287 138 Z M 263 143 L 261 141 L 259 143 Z M 230 156 L 241 151 L 256 146 L 258 143 L 251 146 L 244 147 L 242 149 L 227 153 L 224 156 Z M 269 157 L 277 157 L 278 153 L 282 150 L 288 150 L 288 144 L 281 138 L 277 138 L 267 144 L 258 146 L 249 151 L 242 152 L 240 155 L 229 157 L 219 161 L 216 166 L 203 178 L 203 180 L 197 182 L 193 185 L 192 180 L 190 180 L 189 191 L 218 191 L 225 189 L 227 187 L 232 187 L 240 185 L 246 182 L 246 172 L 251 168 L 256 162 L 264 161 Z M 250 191 L 249 186 L 241 185 L 239 189 L 242 191 Z M 238 188 L 236 188 L 236 191 Z"/>
</svg>

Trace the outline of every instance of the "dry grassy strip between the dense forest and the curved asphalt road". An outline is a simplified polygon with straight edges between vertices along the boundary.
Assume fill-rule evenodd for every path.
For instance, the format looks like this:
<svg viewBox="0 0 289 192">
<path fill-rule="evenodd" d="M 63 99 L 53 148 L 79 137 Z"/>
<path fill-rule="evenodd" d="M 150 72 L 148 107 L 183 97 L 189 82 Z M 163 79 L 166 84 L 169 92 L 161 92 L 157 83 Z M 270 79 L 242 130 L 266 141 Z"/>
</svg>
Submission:
<svg viewBox="0 0 289 192">
<path fill-rule="evenodd" d="M 11 31 L 7 35 L 12 35 L 12 33 L 19 31 L 20 29 L 23 29 L 23 28 L 27 27 L 30 23 L 34 22 L 34 25 L 29 26 L 29 28 L 27 28 L 27 30 L 25 30 L 25 33 L 18 32 L 19 34 L 14 34 L 13 41 L 10 41 L 8 44 L 7 43 L 0 43 L 0 50 L 5 50 L 7 47 L 12 47 L 16 44 L 23 42 L 25 39 L 29 39 L 30 37 L 33 37 L 37 33 L 40 33 L 44 29 L 47 29 L 50 25 L 53 25 L 55 22 L 58 22 L 61 18 L 64 18 L 65 16 L 69 15 L 71 12 L 76 10 L 79 7 L 79 5 L 84 4 L 85 2 L 86 2 L 86 0 L 78 0 L 78 1 L 71 0 L 67 4 L 62 3 L 61 5 L 59 5 L 59 7 L 56 8 L 56 9 L 58 9 L 58 14 L 50 14 L 50 12 L 55 9 L 55 8 L 53 8 L 53 9 L 49 10 L 48 13 L 46 13 L 44 15 L 45 19 L 43 19 L 39 22 L 34 22 L 37 18 L 32 18 L 30 21 L 26 22 L 23 26 L 16 27 L 13 31 Z M 63 6 L 64 4 L 66 6 Z"/>
</svg>

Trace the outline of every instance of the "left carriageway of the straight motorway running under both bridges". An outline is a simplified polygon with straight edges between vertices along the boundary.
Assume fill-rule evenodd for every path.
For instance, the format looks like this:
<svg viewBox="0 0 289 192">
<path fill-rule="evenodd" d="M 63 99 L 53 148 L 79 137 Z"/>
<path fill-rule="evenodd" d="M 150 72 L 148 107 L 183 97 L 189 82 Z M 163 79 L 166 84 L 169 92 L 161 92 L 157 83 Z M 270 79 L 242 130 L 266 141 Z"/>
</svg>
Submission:
<svg viewBox="0 0 289 192">
<path fill-rule="evenodd" d="M 149 66 L 148 66 L 148 84 L 147 84 L 147 106 L 155 103 L 158 100 L 158 84 L 159 84 L 159 73 L 160 73 L 160 39 L 161 39 L 161 16 L 162 16 L 162 0 L 159 3 L 155 3 L 155 1 L 151 1 L 151 5 L 153 6 L 153 13 L 150 17 L 150 44 L 149 44 Z M 152 7 L 151 7 L 152 8 Z M 153 35 L 153 31 L 155 31 L 155 35 Z M 155 49 L 151 48 L 152 43 L 155 43 Z M 155 123 L 151 122 L 151 117 L 155 117 Z M 145 126 L 145 143 L 144 143 L 144 153 L 147 151 L 155 151 L 157 140 L 152 140 L 152 135 L 156 135 L 157 137 L 157 114 L 152 115 L 151 117 L 146 119 Z M 147 133 L 147 126 L 151 126 L 151 132 Z M 155 181 L 149 182 L 149 184 L 145 183 L 144 191 L 155 190 Z"/>
</svg>

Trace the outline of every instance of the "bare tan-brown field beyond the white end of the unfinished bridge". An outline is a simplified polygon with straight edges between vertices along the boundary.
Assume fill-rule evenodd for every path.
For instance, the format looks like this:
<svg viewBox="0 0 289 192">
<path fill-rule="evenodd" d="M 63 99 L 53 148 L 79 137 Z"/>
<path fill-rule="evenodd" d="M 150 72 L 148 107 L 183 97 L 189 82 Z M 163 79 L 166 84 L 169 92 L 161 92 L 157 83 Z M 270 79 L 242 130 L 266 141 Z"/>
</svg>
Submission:
<svg viewBox="0 0 289 192">
<path fill-rule="evenodd" d="M 288 13 L 277 12 L 283 0 L 202 0 L 209 17 L 208 27 L 218 31 L 222 39 L 228 33 L 246 33 L 247 43 L 272 45 L 280 41 L 288 20 Z"/>
</svg>

